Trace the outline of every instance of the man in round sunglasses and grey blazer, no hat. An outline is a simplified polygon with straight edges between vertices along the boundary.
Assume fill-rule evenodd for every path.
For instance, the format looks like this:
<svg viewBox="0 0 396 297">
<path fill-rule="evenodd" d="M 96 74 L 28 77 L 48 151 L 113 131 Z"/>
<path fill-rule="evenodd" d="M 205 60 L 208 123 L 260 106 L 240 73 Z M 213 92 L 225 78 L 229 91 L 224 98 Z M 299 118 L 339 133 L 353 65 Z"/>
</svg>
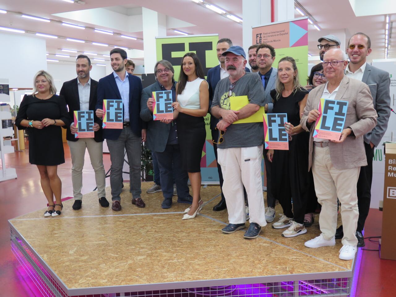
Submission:
<svg viewBox="0 0 396 297">
<path fill-rule="evenodd" d="M 366 34 L 359 32 L 352 35 L 346 53 L 350 60 L 345 69 L 346 76 L 367 84 L 378 115 L 377 125 L 363 137 L 367 166 L 360 168 L 357 185 L 359 219 L 356 237 L 358 238 L 358 247 L 363 247 L 365 244 L 362 231 L 370 209 L 374 149 L 381 143 L 390 116 L 390 77 L 388 72 L 366 63 L 367 56 L 371 53 L 371 40 Z M 342 237 L 343 226 L 341 225 L 337 228 L 335 239 Z"/>
</svg>

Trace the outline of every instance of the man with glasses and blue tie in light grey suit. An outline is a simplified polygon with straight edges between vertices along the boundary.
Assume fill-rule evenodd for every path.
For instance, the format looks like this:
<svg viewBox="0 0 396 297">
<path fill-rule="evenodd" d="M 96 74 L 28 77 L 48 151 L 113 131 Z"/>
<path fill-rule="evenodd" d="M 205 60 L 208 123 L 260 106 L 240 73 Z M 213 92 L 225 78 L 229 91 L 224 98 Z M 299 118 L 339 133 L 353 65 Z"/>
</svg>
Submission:
<svg viewBox="0 0 396 297">
<path fill-rule="evenodd" d="M 270 91 L 275 88 L 276 75 L 278 69 L 272 67 L 272 63 L 275 61 L 275 49 L 269 44 L 262 43 L 256 49 L 256 64 L 259 67 L 261 82 L 264 86 L 264 97 L 265 97 L 265 112 L 272 112 L 272 98 Z M 267 210 L 265 211 L 265 220 L 270 223 L 275 218 L 275 197 L 272 193 L 271 187 L 271 162 L 267 158 L 268 150 L 264 150 L 264 162 L 265 172 L 267 174 Z"/>
</svg>

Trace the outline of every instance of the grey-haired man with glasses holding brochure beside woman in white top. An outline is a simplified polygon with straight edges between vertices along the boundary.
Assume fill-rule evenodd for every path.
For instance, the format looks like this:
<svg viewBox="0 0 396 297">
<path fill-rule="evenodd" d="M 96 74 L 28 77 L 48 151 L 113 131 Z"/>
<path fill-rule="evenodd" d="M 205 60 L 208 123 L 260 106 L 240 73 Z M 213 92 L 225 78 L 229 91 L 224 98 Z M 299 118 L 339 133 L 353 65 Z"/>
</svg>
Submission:
<svg viewBox="0 0 396 297">
<path fill-rule="evenodd" d="M 147 147 L 155 152 L 160 169 L 160 183 L 164 201 L 162 208 L 172 206 L 173 172 L 177 189 L 177 202 L 192 203 L 188 188 L 187 171 L 181 167 L 180 147 L 177 139 L 177 125 L 173 120 L 153 120 L 152 109 L 155 100 L 152 92 L 172 91 L 172 101 L 176 99 L 176 82 L 173 79 L 175 70 L 169 61 L 158 61 L 154 67 L 157 81 L 142 91 L 140 117 L 147 122 Z"/>
</svg>

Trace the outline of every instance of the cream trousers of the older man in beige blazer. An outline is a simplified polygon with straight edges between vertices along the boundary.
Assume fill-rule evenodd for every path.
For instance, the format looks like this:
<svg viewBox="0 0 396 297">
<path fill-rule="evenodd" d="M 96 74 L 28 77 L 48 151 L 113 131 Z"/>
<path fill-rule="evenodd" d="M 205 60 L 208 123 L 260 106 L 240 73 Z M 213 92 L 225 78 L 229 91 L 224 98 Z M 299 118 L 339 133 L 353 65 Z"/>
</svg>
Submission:
<svg viewBox="0 0 396 297">
<path fill-rule="evenodd" d="M 343 245 L 356 247 L 356 227 L 358 225 L 358 183 L 360 167 L 336 169 L 330 159 L 329 147 L 315 147 L 313 153 L 312 173 L 318 202 L 322 205 L 319 227 L 323 238 L 334 237 L 337 229 L 337 197 L 341 202 L 341 219 L 343 222 Z"/>
</svg>

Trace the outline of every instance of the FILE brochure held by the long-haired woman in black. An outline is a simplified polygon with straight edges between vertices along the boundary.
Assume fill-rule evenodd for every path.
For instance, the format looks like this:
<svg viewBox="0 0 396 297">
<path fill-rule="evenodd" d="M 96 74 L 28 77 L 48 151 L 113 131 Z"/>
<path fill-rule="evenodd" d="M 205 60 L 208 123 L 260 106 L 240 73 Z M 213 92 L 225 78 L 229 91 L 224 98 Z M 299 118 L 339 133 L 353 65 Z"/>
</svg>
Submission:
<svg viewBox="0 0 396 297">
<path fill-rule="evenodd" d="M 288 150 L 289 135 L 285 129 L 286 113 L 263 114 L 264 148 L 268 150 Z"/>
</svg>

